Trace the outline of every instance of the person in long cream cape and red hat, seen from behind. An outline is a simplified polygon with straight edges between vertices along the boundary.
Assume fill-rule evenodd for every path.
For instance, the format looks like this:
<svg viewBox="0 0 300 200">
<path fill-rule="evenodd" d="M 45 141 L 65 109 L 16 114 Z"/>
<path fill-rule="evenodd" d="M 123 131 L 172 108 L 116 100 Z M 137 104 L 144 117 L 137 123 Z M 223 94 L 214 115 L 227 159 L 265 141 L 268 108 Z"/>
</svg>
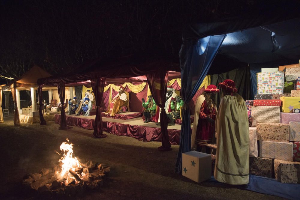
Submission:
<svg viewBox="0 0 300 200">
<path fill-rule="evenodd" d="M 219 83 L 223 97 L 216 117 L 217 154 L 214 178 L 222 183 L 245 185 L 249 182 L 249 124 L 246 104 L 235 83 Z"/>
</svg>

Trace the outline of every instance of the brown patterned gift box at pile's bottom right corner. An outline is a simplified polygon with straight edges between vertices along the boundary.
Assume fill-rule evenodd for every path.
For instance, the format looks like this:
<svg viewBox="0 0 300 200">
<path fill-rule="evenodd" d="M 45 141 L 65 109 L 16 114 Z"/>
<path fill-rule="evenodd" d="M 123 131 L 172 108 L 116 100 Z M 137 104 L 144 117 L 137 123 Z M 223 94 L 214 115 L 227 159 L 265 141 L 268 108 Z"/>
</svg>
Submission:
<svg viewBox="0 0 300 200">
<path fill-rule="evenodd" d="M 274 160 L 275 178 L 281 183 L 300 183 L 300 162 Z"/>
</svg>

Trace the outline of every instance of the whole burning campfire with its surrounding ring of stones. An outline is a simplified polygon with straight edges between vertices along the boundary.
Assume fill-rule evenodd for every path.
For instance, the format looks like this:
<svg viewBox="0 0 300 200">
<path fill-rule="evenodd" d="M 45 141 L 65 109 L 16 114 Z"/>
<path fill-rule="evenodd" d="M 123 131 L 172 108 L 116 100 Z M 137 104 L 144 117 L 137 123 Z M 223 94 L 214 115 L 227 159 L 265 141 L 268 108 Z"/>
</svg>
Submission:
<svg viewBox="0 0 300 200">
<path fill-rule="evenodd" d="M 42 169 L 39 173 L 24 176 L 22 188 L 43 198 L 64 198 L 81 196 L 86 190 L 102 187 L 110 181 L 107 175 L 110 167 L 104 163 L 80 163 L 73 156 L 73 144 L 63 142 L 60 145 L 62 157 L 59 165 L 53 169 Z"/>
</svg>

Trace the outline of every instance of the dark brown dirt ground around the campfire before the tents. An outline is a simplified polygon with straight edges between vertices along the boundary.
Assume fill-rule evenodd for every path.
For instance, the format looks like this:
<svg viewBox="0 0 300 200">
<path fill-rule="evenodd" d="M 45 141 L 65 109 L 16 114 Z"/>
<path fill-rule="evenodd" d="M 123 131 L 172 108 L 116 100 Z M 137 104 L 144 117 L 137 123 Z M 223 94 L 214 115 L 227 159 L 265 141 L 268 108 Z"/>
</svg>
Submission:
<svg viewBox="0 0 300 200">
<path fill-rule="evenodd" d="M 12 118 L 4 120 L 0 123 L 0 199 L 23 199 L 16 190 L 22 177 L 57 165 L 60 156 L 55 151 L 66 138 L 74 144 L 79 160 L 107 163 L 110 177 L 116 178 L 108 187 L 76 199 L 280 199 L 212 182 L 197 184 L 174 173 L 178 145 L 160 152 L 159 142 L 108 133 L 107 138 L 94 139 L 92 130 L 78 127 L 59 130 L 54 122 L 14 127 Z"/>
</svg>

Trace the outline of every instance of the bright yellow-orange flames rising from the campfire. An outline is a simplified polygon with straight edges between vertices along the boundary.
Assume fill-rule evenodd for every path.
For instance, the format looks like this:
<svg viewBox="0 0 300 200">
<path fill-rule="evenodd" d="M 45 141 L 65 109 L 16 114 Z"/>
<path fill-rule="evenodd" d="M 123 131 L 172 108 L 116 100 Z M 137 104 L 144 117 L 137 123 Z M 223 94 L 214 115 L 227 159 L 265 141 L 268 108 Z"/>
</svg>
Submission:
<svg viewBox="0 0 300 200">
<path fill-rule="evenodd" d="M 66 140 L 69 142 L 68 139 Z M 69 170 L 72 169 L 75 171 L 76 167 L 81 167 L 79 160 L 75 156 L 73 157 L 73 144 L 68 144 L 67 142 L 63 142 L 59 147 L 61 151 L 64 151 L 64 155 L 58 160 L 61 163 L 61 172 L 58 175 L 59 178 L 63 178 L 65 174 L 67 177 L 72 177 Z"/>
</svg>

